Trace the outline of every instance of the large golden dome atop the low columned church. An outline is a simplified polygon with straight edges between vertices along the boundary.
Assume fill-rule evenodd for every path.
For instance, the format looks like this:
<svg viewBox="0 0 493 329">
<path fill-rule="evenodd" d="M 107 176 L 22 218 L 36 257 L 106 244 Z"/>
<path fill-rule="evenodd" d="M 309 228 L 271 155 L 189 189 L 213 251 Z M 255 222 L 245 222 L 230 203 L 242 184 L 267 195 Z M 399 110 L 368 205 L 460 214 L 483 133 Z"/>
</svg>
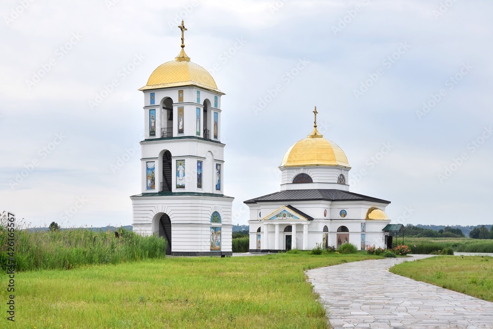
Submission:
<svg viewBox="0 0 493 329">
<path fill-rule="evenodd" d="M 341 166 L 351 169 L 341 147 L 323 138 L 317 127 L 307 138 L 289 147 L 279 168 L 308 166 Z"/>
</svg>

